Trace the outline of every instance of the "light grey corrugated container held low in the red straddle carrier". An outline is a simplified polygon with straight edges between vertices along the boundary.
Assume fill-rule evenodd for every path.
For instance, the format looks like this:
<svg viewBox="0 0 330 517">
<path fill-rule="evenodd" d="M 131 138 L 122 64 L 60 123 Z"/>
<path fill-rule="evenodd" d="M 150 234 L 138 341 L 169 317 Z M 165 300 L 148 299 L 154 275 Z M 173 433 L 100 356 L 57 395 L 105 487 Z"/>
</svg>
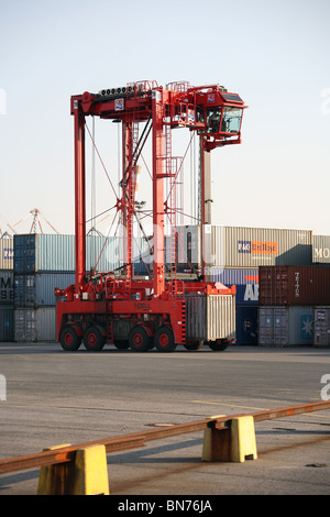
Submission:
<svg viewBox="0 0 330 517">
<path fill-rule="evenodd" d="M 235 297 L 200 295 L 186 297 L 186 339 L 235 339 Z"/>
</svg>

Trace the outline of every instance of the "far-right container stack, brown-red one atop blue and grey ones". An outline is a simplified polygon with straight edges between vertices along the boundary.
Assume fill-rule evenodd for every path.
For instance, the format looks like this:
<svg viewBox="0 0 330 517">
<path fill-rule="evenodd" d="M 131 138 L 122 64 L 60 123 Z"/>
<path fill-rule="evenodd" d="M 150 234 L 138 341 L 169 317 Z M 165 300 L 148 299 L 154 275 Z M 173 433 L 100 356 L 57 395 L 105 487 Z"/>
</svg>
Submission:
<svg viewBox="0 0 330 517">
<path fill-rule="evenodd" d="M 330 306 L 329 266 L 261 267 L 260 344 L 330 344 L 322 305 Z"/>
</svg>

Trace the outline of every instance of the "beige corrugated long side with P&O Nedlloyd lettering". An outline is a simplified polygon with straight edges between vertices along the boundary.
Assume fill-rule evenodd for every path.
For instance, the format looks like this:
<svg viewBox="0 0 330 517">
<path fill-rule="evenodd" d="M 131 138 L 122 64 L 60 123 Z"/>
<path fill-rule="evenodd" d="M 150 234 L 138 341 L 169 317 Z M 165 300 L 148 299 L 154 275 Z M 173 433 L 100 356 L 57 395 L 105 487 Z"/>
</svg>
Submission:
<svg viewBox="0 0 330 517">
<path fill-rule="evenodd" d="M 205 232 L 205 260 L 221 267 L 310 265 L 311 245 L 309 230 L 212 226 Z"/>
</svg>

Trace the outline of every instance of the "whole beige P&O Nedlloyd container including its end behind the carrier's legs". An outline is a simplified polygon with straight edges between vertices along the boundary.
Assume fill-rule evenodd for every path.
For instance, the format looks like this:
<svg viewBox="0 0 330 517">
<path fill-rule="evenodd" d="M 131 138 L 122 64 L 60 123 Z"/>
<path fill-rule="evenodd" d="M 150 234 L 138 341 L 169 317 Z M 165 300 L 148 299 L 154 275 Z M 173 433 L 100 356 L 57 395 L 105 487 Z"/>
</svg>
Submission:
<svg viewBox="0 0 330 517">
<path fill-rule="evenodd" d="M 177 227 L 177 242 L 166 237 L 165 262 L 179 272 L 206 267 L 255 268 L 261 265 L 311 265 L 312 232 L 205 224 Z"/>
</svg>

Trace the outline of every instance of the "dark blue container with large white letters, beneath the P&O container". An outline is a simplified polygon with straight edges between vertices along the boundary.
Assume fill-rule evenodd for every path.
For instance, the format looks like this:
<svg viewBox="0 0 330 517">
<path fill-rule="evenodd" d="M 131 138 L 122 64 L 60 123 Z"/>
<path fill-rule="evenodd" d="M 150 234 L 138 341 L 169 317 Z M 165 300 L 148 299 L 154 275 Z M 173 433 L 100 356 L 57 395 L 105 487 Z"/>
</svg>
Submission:
<svg viewBox="0 0 330 517">
<path fill-rule="evenodd" d="M 212 282 L 237 286 L 238 305 L 258 304 L 258 270 L 212 270 Z"/>
</svg>

